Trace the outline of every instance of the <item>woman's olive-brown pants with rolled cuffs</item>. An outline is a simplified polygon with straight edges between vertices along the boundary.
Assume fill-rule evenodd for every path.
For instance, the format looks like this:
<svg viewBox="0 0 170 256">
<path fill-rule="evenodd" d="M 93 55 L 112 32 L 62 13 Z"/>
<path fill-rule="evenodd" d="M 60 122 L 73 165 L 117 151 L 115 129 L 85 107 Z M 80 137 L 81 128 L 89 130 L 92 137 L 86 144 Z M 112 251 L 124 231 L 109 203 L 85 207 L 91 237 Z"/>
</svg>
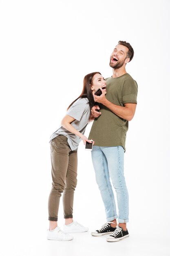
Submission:
<svg viewBox="0 0 170 256">
<path fill-rule="evenodd" d="M 53 182 L 48 204 L 49 220 L 58 220 L 62 192 L 64 218 L 73 218 L 74 191 L 77 185 L 77 150 L 71 150 L 64 135 L 55 137 L 50 147 Z"/>
</svg>

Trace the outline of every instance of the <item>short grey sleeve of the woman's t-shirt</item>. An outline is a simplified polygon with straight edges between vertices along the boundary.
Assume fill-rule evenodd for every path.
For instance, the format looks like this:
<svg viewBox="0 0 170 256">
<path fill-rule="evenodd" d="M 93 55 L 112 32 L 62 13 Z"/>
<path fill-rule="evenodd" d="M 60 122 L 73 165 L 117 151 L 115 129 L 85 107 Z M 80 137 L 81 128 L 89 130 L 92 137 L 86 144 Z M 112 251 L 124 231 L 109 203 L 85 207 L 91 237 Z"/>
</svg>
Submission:
<svg viewBox="0 0 170 256">
<path fill-rule="evenodd" d="M 75 103 L 67 110 L 66 115 L 80 121 L 84 111 L 88 108 L 88 101 L 86 99 L 77 99 Z"/>
</svg>

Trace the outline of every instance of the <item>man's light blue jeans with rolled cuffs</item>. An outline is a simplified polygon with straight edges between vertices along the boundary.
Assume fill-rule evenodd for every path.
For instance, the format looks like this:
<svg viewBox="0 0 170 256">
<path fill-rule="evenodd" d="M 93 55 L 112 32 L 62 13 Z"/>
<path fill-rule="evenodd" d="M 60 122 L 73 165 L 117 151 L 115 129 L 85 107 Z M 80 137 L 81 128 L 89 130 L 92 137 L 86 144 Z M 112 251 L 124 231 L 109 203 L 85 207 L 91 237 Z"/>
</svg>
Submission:
<svg viewBox="0 0 170 256">
<path fill-rule="evenodd" d="M 117 219 L 116 204 L 110 178 L 117 194 L 119 223 L 128 222 L 128 190 L 124 177 L 124 148 L 93 146 L 92 162 L 106 211 L 107 221 Z"/>
</svg>

